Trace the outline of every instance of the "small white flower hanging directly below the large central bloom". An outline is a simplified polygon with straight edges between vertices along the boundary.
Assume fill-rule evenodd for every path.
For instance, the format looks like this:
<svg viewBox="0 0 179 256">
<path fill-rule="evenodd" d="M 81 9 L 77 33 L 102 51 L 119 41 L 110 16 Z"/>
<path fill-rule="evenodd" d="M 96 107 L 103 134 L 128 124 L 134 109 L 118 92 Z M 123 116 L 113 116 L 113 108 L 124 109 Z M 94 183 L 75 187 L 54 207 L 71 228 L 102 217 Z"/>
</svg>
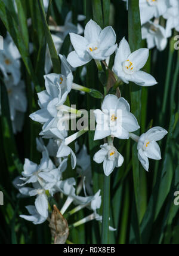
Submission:
<svg viewBox="0 0 179 256">
<path fill-rule="evenodd" d="M 101 145 L 101 150 L 94 155 L 96 163 L 103 163 L 104 174 L 109 176 L 115 167 L 121 167 L 124 157 L 116 150 L 115 147 L 108 144 Z"/>
</svg>

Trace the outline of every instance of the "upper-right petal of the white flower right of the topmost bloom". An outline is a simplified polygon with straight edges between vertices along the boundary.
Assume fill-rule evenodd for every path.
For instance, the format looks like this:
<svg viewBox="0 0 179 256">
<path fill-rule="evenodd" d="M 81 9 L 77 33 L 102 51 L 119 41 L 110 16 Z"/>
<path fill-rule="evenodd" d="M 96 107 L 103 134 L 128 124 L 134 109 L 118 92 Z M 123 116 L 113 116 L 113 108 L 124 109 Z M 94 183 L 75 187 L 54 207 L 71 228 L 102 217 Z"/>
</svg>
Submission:
<svg viewBox="0 0 179 256">
<path fill-rule="evenodd" d="M 148 58 L 149 58 L 149 49 L 147 48 L 141 48 L 129 55 L 129 60 L 130 62 L 133 63 L 134 68 L 137 71 L 144 67 Z"/>
</svg>

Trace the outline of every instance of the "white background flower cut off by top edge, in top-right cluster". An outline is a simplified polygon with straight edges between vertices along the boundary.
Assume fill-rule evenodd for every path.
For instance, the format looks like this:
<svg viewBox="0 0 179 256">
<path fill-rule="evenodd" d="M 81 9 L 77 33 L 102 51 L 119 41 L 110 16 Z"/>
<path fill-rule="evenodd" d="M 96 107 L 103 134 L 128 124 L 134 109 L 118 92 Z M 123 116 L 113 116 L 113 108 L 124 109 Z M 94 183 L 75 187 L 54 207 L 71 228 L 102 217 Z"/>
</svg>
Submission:
<svg viewBox="0 0 179 256">
<path fill-rule="evenodd" d="M 170 7 L 169 0 L 140 0 L 139 2 L 142 25 L 153 17 L 160 17 Z"/>
</svg>

